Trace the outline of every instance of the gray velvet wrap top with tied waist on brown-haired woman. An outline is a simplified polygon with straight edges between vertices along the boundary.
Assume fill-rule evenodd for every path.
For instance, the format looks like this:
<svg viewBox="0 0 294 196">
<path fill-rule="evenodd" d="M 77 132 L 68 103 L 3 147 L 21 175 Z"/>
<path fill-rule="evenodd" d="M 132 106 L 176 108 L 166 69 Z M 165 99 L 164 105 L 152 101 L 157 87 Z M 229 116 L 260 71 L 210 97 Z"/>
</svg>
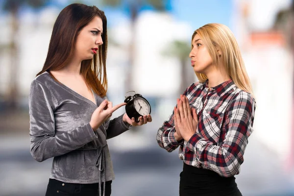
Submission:
<svg viewBox="0 0 294 196">
<path fill-rule="evenodd" d="M 97 104 L 55 81 L 47 72 L 32 81 L 30 152 L 39 162 L 54 157 L 49 178 L 81 184 L 115 178 L 106 140 L 131 125 L 123 123 L 122 115 L 93 131 L 89 124 L 92 113 L 105 99 L 94 96 Z"/>
</svg>

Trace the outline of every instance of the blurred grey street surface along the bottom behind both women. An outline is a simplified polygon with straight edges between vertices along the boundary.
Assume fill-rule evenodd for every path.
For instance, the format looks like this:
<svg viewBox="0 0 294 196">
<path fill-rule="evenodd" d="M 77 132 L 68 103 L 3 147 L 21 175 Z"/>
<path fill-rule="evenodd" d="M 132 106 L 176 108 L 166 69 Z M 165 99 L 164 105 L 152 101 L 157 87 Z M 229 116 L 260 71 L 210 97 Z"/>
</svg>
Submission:
<svg viewBox="0 0 294 196">
<path fill-rule="evenodd" d="M 154 120 L 139 130 L 142 134 L 129 130 L 108 141 L 116 174 L 113 196 L 178 195 L 182 162 L 177 150 L 168 153 L 157 145 L 160 123 Z M 28 134 L 23 133 L 0 136 L 0 196 L 45 196 L 52 159 L 35 161 L 29 153 Z M 124 148 L 117 146 L 116 140 L 121 140 Z M 129 149 L 136 144 L 138 148 Z M 285 173 L 274 157 L 254 134 L 250 136 L 245 162 L 236 176 L 243 196 L 294 196 L 293 175 Z"/>
</svg>

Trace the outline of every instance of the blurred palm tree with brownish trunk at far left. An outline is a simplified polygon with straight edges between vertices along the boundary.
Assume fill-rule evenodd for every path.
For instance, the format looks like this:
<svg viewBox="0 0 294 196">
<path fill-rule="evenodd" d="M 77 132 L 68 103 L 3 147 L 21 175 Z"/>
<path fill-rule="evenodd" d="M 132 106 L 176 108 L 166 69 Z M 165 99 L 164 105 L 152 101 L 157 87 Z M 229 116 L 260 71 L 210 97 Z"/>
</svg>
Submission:
<svg viewBox="0 0 294 196">
<path fill-rule="evenodd" d="M 11 42 L 8 45 L 10 51 L 10 81 L 7 92 L 7 106 L 10 110 L 17 109 L 19 91 L 17 87 L 18 76 L 18 28 L 19 28 L 19 11 L 22 6 L 30 6 L 32 8 L 40 8 L 49 0 L 4 0 L 3 9 L 11 14 Z"/>
</svg>

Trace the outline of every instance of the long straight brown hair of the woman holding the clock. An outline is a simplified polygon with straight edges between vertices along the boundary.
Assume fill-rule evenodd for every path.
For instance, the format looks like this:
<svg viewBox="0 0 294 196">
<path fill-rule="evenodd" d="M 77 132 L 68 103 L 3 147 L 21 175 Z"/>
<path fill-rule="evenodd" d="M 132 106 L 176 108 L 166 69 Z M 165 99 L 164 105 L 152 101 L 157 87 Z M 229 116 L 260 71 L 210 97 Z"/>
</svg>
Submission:
<svg viewBox="0 0 294 196">
<path fill-rule="evenodd" d="M 73 3 L 59 13 L 53 26 L 45 64 L 42 71 L 36 76 L 46 71 L 50 73 L 50 71 L 60 70 L 68 65 L 73 55 L 78 33 L 96 16 L 102 19 L 103 44 L 98 47 L 98 54 L 94 54 L 93 59 L 81 62 L 81 74 L 88 88 L 93 89 L 100 97 L 104 97 L 107 92 L 107 20 L 104 12 L 96 6 Z M 54 78 L 51 73 L 50 75 Z"/>
</svg>

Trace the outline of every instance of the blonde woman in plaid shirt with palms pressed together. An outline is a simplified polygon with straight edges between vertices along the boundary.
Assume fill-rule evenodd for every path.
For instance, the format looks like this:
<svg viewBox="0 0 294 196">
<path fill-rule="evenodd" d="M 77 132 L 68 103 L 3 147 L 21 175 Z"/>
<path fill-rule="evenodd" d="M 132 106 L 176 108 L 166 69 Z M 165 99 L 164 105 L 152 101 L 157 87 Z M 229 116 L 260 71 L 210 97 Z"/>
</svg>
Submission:
<svg viewBox="0 0 294 196">
<path fill-rule="evenodd" d="M 235 182 L 253 129 L 255 99 L 230 29 L 207 24 L 192 36 L 191 84 L 157 132 L 168 152 L 183 160 L 180 196 L 242 196 Z"/>
</svg>

